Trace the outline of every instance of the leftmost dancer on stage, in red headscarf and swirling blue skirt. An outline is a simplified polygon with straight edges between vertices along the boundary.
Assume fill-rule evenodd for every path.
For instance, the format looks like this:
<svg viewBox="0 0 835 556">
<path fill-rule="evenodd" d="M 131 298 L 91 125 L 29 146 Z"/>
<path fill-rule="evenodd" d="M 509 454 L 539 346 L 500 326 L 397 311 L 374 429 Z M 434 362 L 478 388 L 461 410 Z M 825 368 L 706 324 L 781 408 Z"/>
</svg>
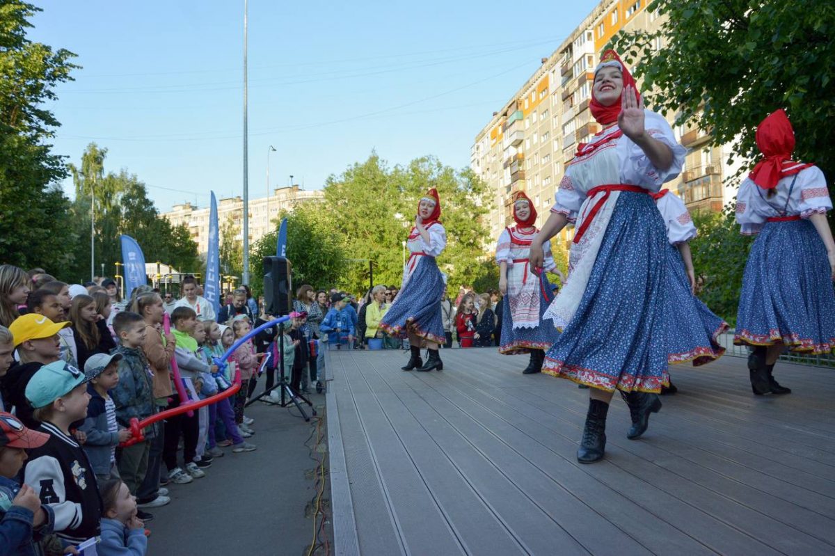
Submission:
<svg viewBox="0 0 835 556">
<path fill-rule="evenodd" d="M 408 336 L 412 356 L 403 371 L 443 370 L 438 345 L 446 341 L 441 319 L 441 298 L 444 279 L 435 258 L 447 246 L 447 231 L 438 220 L 441 200 L 438 191 L 429 190 L 417 204 L 415 225 L 409 232 L 409 260 L 403 269 L 400 292 L 380 321 L 380 330 L 390 336 Z M 426 341 L 429 358 L 426 365 L 420 357 L 421 343 Z"/>
</svg>

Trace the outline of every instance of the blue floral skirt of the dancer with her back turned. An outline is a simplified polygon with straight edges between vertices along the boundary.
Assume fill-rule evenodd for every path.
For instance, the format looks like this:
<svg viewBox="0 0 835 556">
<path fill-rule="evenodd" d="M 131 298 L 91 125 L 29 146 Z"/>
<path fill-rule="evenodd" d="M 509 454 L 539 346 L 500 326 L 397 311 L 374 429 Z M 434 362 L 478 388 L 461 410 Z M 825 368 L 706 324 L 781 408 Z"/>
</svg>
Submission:
<svg viewBox="0 0 835 556">
<path fill-rule="evenodd" d="M 734 343 L 782 343 L 816 355 L 832 351 L 835 291 L 830 276 L 827 250 L 812 222 L 768 222 L 748 254 Z"/>
</svg>

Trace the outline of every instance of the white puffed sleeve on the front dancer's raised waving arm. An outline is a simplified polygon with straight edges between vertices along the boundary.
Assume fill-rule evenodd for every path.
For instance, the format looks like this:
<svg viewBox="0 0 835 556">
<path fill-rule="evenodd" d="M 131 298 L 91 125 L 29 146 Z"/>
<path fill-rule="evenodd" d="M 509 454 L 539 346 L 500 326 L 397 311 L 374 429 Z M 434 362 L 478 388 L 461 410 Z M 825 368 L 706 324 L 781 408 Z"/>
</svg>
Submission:
<svg viewBox="0 0 835 556">
<path fill-rule="evenodd" d="M 618 139 L 620 154 L 620 178 L 625 184 L 644 185 L 647 189 L 660 190 L 661 184 L 676 179 L 684 166 L 687 149 L 678 144 L 667 120 L 651 110 L 644 110 L 645 128 L 653 139 L 670 147 L 673 161 L 670 168 L 655 168 L 649 157 L 637 144 L 625 135 Z"/>
</svg>

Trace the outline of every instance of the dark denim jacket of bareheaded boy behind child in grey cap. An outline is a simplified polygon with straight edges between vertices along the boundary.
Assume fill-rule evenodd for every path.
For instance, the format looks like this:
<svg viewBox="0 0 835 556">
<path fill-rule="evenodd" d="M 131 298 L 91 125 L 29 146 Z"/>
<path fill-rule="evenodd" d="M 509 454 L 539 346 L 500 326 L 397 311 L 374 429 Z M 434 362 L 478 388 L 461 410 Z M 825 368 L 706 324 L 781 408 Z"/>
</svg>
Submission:
<svg viewBox="0 0 835 556">
<path fill-rule="evenodd" d="M 119 361 L 119 384 L 110 391 L 110 397 L 116 406 L 116 422 L 129 427 L 131 418 L 141 421 L 156 412 L 153 377 L 141 348 L 119 346 L 114 353 L 121 353 L 122 359 Z M 146 428 L 144 436 L 155 437 L 155 425 Z"/>
</svg>

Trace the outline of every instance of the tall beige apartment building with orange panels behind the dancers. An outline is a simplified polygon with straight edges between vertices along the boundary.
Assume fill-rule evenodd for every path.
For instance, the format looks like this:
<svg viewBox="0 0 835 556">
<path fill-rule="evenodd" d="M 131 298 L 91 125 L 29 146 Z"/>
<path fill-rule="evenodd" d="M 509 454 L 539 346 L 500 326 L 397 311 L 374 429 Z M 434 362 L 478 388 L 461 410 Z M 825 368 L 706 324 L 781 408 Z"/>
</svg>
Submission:
<svg viewBox="0 0 835 556">
<path fill-rule="evenodd" d="M 574 29 L 476 135 L 470 166 L 493 189 L 490 235 L 498 237 L 513 221 L 511 195 L 522 190 L 539 212 L 538 225 L 548 218 L 565 164 L 579 143 L 600 131 L 589 109 L 594 70 L 605 45 L 620 31 L 655 30 L 663 16 L 646 9 L 648 0 L 604 0 Z M 656 50 L 663 47 L 656 43 Z M 676 114 L 665 114 L 671 124 Z M 736 190 L 723 179 L 736 169 L 726 167 L 726 147 L 711 147 L 695 126 L 676 126 L 676 138 L 688 149 L 685 169 L 665 187 L 676 192 L 691 210 L 721 210 Z M 564 230 L 554 248 L 567 248 L 574 230 Z M 561 240 L 561 241 L 560 241 Z"/>
</svg>

